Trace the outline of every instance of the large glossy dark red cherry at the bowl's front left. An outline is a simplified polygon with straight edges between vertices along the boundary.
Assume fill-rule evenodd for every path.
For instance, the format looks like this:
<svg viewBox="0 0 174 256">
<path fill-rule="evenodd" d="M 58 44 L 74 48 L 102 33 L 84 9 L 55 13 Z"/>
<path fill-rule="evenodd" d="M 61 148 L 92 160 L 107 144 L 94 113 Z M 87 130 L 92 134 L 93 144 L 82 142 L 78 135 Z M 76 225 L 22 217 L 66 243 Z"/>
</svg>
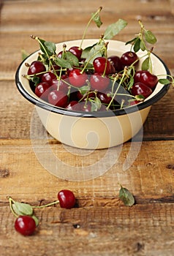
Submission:
<svg viewBox="0 0 174 256">
<path fill-rule="evenodd" d="M 65 108 L 68 102 L 68 97 L 64 91 L 53 90 L 48 94 L 48 102 L 57 107 Z"/>
</svg>

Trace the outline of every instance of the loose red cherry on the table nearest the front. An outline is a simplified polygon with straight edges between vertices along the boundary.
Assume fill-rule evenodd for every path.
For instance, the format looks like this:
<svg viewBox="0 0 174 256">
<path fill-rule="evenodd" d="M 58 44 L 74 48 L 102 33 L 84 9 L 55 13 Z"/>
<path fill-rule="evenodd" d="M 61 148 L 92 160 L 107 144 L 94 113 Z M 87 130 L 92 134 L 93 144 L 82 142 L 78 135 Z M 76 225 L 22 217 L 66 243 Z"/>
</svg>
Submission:
<svg viewBox="0 0 174 256">
<path fill-rule="evenodd" d="M 31 236 L 36 229 L 36 222 L 31 216 L 23 215 L 15 220 L 15 230 L 23 236 Z"/>
</svg>

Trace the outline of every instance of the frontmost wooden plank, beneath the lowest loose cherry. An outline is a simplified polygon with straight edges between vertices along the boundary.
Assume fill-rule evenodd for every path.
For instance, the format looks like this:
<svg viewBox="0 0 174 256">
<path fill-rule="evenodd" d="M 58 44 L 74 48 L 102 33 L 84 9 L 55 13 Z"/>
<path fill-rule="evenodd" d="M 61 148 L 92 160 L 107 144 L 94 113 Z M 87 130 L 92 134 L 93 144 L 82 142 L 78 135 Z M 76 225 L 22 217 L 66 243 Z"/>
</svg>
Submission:
<svg viewBox="0 0 174 256">
<path fill-rule="evenodd" d="M 1 207 L 1 256 L 171 256 L 174 250 L 173 204 L 115 208 L 58 207 L 37 210 L 35 236 L 13 228 L 8 207 Z M 15 243 L 14 243 L 15 241 Z M 32 246 L 31 246 L 32 244 Z"/>
</svg>

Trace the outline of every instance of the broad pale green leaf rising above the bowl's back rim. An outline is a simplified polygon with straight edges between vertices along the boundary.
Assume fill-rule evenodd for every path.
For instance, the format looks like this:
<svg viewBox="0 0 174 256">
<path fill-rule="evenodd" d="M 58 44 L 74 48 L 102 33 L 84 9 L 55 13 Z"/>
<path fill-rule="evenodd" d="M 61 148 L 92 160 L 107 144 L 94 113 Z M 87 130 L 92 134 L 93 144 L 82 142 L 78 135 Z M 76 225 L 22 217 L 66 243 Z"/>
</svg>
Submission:
<svg viewBox="0 0 174 256">
<path fill-rule="evenodd" d="M 104 39 L 112 39 L 127 25 L 126 20 L 119 19 L 116 23 L 107 26 L 104 33 Z"/>
</svg>

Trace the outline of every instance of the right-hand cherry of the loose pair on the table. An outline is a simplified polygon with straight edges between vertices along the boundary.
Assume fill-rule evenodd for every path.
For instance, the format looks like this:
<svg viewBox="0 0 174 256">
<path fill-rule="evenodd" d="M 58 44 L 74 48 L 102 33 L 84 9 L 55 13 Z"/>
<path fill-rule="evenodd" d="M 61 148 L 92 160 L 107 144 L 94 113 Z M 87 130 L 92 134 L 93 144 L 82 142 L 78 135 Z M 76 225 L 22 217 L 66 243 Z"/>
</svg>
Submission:
<svg viewBox="0 0 174 256">
<path fill-rule="evenodd" d="M 58 192 L 58 200 L 61 208 L 73 208 L 75 206 L 76 200 L 74 193 L 69 189 L 62 189 Z"/>
</svg>

